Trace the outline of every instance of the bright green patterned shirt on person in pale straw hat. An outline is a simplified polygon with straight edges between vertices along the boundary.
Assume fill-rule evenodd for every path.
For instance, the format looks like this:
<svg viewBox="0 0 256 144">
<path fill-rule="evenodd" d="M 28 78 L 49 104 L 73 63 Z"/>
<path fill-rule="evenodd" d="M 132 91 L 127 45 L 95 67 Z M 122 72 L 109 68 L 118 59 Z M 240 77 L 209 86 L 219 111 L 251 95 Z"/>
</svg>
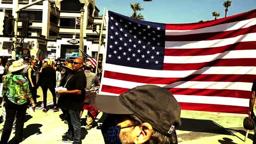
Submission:
<svg viewBox="0 0 256 144">
<path fill-rule="evenodd" d="M 32 97 L 28 88 L 28 79 L 22 75 L 7 74 L 3 76 L 3 97 L 22 105 Z"/>
</svg>

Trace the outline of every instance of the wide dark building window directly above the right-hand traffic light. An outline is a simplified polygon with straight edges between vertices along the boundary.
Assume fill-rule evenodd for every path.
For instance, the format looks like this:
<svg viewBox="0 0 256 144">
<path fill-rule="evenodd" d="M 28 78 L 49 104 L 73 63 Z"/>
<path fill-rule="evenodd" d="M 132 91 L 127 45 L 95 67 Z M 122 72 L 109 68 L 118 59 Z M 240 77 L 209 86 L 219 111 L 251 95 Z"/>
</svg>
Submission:
<svg viewBox="0 0 256 144">
<path fill-rule="evenodd" d="M 43 12 L 42 11 L 21 11 L 19 14 L 19 18 L 28 20 L 35 20 L 35 21 L 41 21 L 43 19 Z"/>
</svg>

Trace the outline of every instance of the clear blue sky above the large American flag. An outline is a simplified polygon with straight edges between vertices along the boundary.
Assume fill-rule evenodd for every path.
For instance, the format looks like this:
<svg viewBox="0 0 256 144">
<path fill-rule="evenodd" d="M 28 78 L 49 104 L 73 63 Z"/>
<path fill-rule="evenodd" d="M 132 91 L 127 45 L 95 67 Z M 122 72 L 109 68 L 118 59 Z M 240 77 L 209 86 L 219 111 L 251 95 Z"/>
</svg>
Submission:
<svg viewBox="0 0 256 144">
<path fill-rule="evenodd" d="M 224 0 L 96 0 L 96 6 L 103 13 L 108 10 L 131 16 L 133 11 L 130 3 L 140 3 L 144 9 L 140 13 L 146 21 L 161 23 L 192 23 L 200 20 L 213 20 L 212 12 L 220 13 L 219 18 L 225 17 Z M 256 9 L 256 0 L 233 0 L 229 7 L 228 16 Z"/>
</svg>

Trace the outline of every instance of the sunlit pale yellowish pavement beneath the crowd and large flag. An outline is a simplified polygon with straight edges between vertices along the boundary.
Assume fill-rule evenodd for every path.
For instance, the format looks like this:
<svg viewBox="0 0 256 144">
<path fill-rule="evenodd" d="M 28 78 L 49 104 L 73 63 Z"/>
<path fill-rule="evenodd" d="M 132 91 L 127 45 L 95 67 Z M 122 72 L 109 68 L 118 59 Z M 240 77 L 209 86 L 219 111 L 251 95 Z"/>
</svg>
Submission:
<svg viewBox="0 0 256 144">
<path fill-rule="evenodd" d="M 37 101 L 43 101 L 41 87 L 38 88 L 37 94 L 41 97 Z M 47 92 L 48 106 L 52 107 L 52 95 Z M 43 107 L 38 107 L 34 114 L 30 114 L 27 109 L 26 122 L 23 130 L 24 140 L 22 144 L 55 144 L 64 143 L 61 141 L 63 133 L 68 129 L 68 125 L 60 119 L 61 111 L 53 112 L 50 109 L 43 113 Z M 82 116 L 82 143 L 104 143 L 99 126 L 106 116 L 102 112 L 97 116 L 93 129 L 85 129 L 85 115 Z M 230 113 L 212 113 L 207 111 L 182 110 L 182 125 L 177 130 L 178 143 L 252 143 L 253 131 L 250 131 L 245 139 L 246 130 L 243 128 L 243 119 L 247 115 L 230 114 Z M 2 129 L 3 123 L 0 124 Z M 12 131 L 9 143 L 14 136 L 15 130 Z"/>
</svg>

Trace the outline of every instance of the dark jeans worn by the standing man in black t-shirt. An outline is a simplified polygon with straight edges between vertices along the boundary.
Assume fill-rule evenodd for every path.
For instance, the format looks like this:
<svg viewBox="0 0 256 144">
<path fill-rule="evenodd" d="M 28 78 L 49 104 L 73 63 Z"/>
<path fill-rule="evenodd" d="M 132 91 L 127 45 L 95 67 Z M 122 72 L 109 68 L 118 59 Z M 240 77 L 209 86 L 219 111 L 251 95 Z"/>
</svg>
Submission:
<svg viewBox="0 0 256 144">
<path fill-rule="evenodd" d="M 67 137 L 69 139 L 73 138 L 74 144 L 81 144 L 81 121 L 79 117 L 80 111 L 78 110 L 67 110 L 67 120 L 68 120 L 68 133 Z"/>
</svg>

